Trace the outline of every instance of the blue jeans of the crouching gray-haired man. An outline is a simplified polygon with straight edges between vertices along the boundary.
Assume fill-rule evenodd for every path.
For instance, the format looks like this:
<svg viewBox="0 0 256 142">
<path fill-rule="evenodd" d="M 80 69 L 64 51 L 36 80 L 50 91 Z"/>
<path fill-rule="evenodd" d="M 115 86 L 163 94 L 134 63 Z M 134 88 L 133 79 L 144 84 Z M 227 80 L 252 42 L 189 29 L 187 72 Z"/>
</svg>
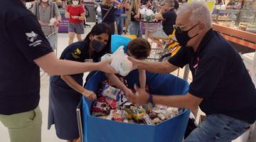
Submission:
<svg viewBox="0 0 256 142">
<path fill-rule="evenodd" d="M 250 124 L 245 121 L 224 114 L 212 114 L 184 142 L 230 142 L 249 128 Z"/>
</svg>

